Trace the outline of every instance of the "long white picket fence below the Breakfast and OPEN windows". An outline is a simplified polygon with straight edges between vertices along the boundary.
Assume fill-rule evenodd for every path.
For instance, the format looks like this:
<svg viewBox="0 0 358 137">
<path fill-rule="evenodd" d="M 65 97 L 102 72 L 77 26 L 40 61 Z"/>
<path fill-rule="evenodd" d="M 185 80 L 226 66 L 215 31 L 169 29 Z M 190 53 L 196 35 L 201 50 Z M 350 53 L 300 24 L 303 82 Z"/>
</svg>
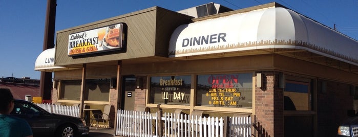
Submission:
<svg viewBox="0 0 358 137">
<path fill-rule="evenodd" d="M 120 136 L 251 136 L 250 117 L 202 118 L 189 115 L 141 111 L 117 111 L 116 135 Z M 225 122 L 226 121 L 226 122 Z M 160 122 L 160 124 L 159 124 Z M 228 122 L 228 123 L 227 123 Z M 225 130 L 225 126 L 226 130 Z M 162 132 L 161 134 L 158 134 Z"/>
</svg>

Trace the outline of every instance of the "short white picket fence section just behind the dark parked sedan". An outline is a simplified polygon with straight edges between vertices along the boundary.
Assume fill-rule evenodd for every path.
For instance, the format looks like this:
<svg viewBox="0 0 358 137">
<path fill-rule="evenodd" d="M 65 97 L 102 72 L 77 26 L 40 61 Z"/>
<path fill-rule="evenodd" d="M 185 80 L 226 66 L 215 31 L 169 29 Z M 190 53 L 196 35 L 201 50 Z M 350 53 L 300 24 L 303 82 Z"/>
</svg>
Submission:
<svg viewBox="0 0 358 137">
<path fill-rule="evenodd" d="M 57 113 L 61 115 L 68 115 L 72 117 L 80 117 L 79 116 L 79 106 L 65 106 L 65 105 L 55 105 L 51 103 L 43 103 L 38 104 L 35 103 L 37 106 L 44 108 L 46 111 L 51 113 Z"/>
</svg>

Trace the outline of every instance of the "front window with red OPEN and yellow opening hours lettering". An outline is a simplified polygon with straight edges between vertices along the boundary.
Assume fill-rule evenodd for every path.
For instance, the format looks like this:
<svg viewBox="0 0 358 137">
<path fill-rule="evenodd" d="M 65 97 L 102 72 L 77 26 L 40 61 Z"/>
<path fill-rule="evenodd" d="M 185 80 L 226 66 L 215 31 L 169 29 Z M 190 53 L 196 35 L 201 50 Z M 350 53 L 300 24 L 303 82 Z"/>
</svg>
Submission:
<svg viewBox="0 0 358 137">
<path fill-rule="evenodd" d="M 196 105 L 252 108 L 252 74 L 198 75 Z"/>
</svg>

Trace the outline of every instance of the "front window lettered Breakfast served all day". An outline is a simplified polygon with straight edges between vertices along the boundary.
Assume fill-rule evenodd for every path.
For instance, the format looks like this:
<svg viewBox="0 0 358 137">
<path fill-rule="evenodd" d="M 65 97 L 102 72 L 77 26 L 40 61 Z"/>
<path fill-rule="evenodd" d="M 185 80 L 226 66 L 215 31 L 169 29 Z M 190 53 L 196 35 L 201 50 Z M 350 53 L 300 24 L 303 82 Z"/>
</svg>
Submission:
<svg viewBox="0 0 358 137">
<path fill-rule="evenodd" d="M 190 105 L 190 76 L 151 77 L 150 103 Z"/>
</svg>

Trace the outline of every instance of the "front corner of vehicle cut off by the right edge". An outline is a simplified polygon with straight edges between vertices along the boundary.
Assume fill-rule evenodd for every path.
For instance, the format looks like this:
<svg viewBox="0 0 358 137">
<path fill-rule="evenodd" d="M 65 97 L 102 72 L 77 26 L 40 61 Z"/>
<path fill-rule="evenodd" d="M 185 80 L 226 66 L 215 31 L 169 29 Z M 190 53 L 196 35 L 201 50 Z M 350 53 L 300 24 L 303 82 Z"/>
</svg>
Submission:
<svg viewBox="0 0 358 137">
<path fill-rule="evenodd" d="M 338 127 L 337 136 L 358 136 L 358 116 L 346 119 Z"/>
</svg>

